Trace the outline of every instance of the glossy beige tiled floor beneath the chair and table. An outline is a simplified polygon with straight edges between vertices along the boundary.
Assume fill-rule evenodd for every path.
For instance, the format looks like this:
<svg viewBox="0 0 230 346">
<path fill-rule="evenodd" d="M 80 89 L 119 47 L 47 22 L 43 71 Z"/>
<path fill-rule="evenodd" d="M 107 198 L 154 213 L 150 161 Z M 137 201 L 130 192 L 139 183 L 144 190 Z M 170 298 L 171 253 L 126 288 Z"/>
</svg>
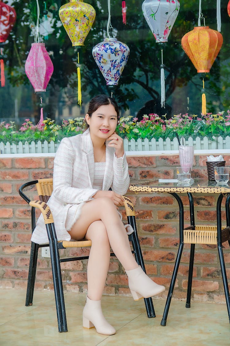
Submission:
<svg viewBox="0 0 230 346">
<path fill-rule="evenodd" d="M 160 325 L 165 300 L 154 299 L 156 318 L 147 318 L 144 301 L 131 297 L 102 297 L 102 308 L 116 328 L 112 336 L 82 328 L 85 294 L 65 293 L 68 333 L 59 333 L 52 291 L 34 292 L 33 306 L 25 307 L 25 291 L 0 290 L 0 345 L 230 345 L 227 307 L 222 304 L 172 300 L 167 325 Z"/>
</svg>

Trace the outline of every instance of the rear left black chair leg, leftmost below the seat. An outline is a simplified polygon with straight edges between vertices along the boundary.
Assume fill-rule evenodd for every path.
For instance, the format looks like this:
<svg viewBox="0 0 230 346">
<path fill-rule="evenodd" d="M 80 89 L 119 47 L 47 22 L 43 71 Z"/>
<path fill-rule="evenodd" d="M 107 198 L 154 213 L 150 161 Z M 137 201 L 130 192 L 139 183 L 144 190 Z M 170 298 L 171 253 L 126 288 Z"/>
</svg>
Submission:
<svg viewBox="0 0 230 346">
<path fill-rule="evenodd" d="M 39 245 L 31 242 L 30 264 L 29 264 L 27 292 L 26 292 L 26 306 L 30 306 L 33 304 L 33 291 L 34 291 L 37 260 L 38 260 L 38 249 L 39 249 Z"/>
</svg>

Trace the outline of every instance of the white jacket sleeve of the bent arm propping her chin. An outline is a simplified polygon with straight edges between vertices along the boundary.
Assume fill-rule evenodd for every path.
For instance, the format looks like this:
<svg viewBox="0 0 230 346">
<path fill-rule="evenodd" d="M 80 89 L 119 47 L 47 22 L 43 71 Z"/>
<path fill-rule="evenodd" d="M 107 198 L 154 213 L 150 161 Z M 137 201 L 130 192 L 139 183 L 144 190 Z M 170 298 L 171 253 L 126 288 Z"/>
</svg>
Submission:
<svg viewBox="0 0 230 346">
<path fill-rule="evenodd" d="M 113 157 L 113 183 L 112 190 L 123 195 L 129 188 L 129 167 L 126 161 L 126 154 L 117 158 Z"/>
</svg>

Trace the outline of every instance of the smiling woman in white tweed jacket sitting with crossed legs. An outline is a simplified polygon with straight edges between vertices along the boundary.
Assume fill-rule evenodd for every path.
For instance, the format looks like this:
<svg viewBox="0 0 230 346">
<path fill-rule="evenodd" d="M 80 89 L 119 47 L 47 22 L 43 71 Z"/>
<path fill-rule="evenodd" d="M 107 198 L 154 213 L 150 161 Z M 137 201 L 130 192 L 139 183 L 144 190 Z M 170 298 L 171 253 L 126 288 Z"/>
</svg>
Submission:
<svg viewBox="0 0 230 346">
<path fill-rule="evenodd" d="M 89 103 L 87 130 L 64 138 L 54 159 L 53 193 L 48 205 L 58 240 L 90 239 L 87 267 L 88 294 L 83 309 L 83 327 L 112 335 L 116 330 L 101 310 L 101 297 L 110 262 L 110 246 L 123 265 L 134 300 L 165 290 L 138 266 L 126 229 L 117 209 L 129 187 L 129 172 L 123 140 L 115 133 L 119 117 L 117 103 L 98 95 Z M 109 189 L 112 191 L 109 191 Z M 48 241 L 43 218 L 38 219 L 31 240 Z"/>
</svg>

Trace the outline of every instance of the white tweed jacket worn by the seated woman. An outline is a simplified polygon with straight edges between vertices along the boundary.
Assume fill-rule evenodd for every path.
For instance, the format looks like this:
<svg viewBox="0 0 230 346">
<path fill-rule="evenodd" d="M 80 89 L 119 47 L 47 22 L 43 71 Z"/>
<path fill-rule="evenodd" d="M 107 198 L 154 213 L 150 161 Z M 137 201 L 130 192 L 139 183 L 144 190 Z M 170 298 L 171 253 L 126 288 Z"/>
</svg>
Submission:
<svg viewBox="0 0 230 346">
<path fill-rule="evenodd" d="M 48 201 L 52 211 L 58 240 L 70 240 L 65 223 L 69 208 L 74 208 L 74 222 L 85 202 L 92 200 L 98 191 L 93 189 L 94 156 L 89 129 L 83 134 L 63 138 L 54 158 L 53 192 Z M 114 148 L 106 146 L 106 166 L 102 190 L 121 195 L 129 188 L 129 172 L 126 155 L 117 158 Z M 72 209 L 71 209 L 72 210 Z M 48 243 L 43 216 L 38 218 L 32 242 Z"/>
</svg>

